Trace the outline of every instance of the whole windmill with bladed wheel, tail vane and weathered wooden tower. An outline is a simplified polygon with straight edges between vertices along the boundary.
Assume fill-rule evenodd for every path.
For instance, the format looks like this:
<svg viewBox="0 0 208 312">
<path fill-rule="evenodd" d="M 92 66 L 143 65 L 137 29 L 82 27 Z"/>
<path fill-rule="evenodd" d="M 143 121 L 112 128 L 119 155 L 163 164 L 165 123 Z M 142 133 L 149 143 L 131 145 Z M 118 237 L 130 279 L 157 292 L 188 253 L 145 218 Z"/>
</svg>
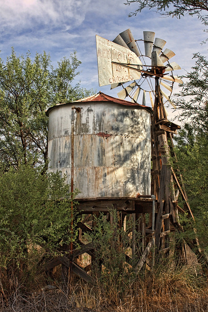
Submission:
<svg viewBox="0 0 208 312">
<path fill-rule="evenodd" d="M 175 55 L 164 49 L 166 41 L 155 38 L 155 33 L 144 31 L 143 39 L 135 40 L 130 29 L 120 33 L 113 41 L 96 36 L 99 85 L 111 85 L 111 89 L 122 87 L 120 99 L 146 105 L 149 95 L 153 109 L 151 118 L 151 194 L 158 202 L 154 239 L 158 251 L 170 249 L 170 229 L 183 232 L 178 212 L 188 212 L 193 217 L 179 170 L 175 173 L 170 165 L 170 155 L 175 157 L 173 135 L 180 127 L 167 119 L 164 104 L 170 99 L 174 82 L 183 83 L 173 75 L 181 67 L 170 59 Z M 142 44 L 141 44 L 142 43 Z M 144 45 L 144 53 L 141 46 Z M 128 84 L 127 84 L 128 83 Z M 178 196 L 184 201 L 183 209 L 178 205 Z M 197 238 L 188 242 L 197 246 Z M 186 249 L 186 247 L 183 247 Z M 198 249 L 200 252 L 200 249 Z M 186 251 L 185 251 L 186 254 Z"/>
</svg>

